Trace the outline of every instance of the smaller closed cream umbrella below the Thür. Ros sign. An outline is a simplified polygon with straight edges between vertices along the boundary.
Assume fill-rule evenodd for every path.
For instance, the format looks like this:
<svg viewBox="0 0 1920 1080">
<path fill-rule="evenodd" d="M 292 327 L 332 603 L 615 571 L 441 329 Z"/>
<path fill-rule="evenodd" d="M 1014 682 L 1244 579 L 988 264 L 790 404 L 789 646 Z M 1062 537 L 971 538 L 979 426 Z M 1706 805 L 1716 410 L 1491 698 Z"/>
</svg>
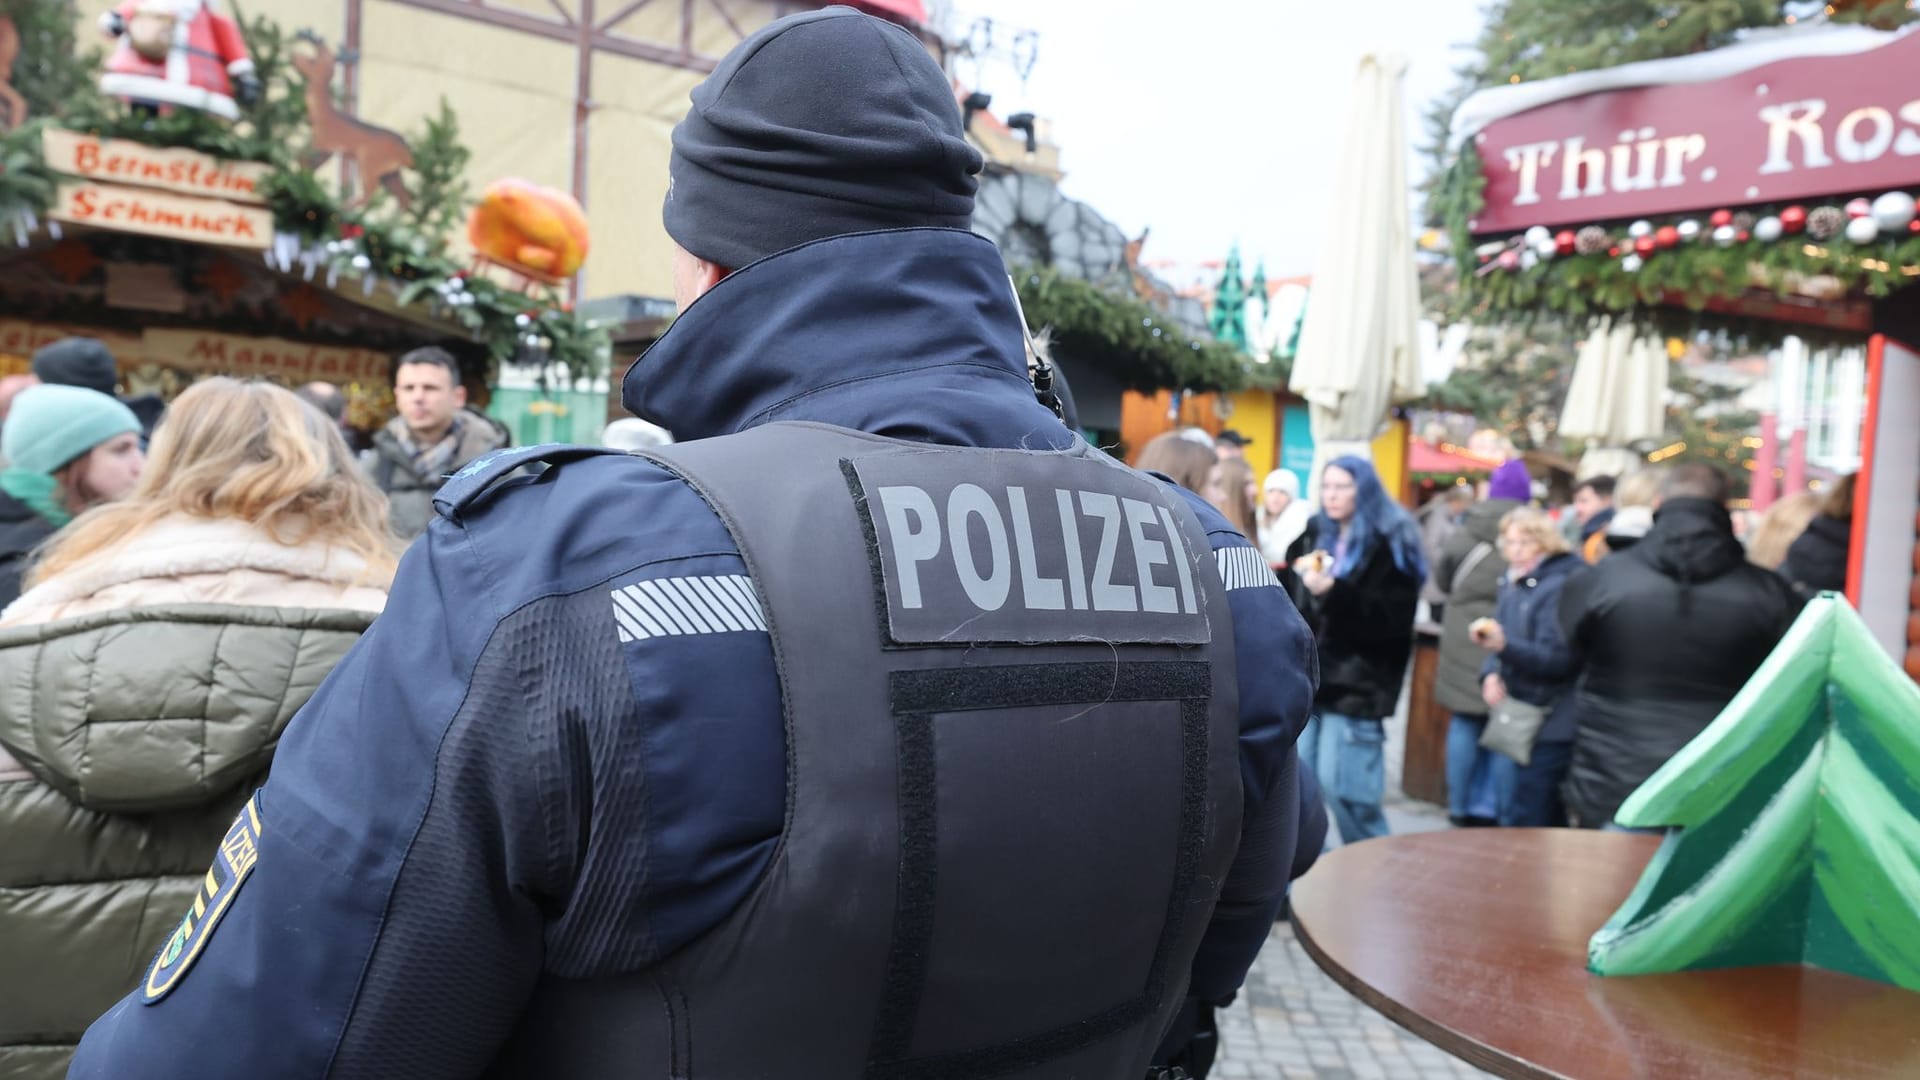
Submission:
<svg viewBox="0 0 1920 1080">
<path fill-rule="evenodd" d="M 1619 477 L 1645 461 L 1630 450 L 1667 432 L 1667 346 L 1632 323 L 1596 319 L 1567 386 L 1561 438 L 1588 442 L 1580 477 Z"/>
</svg>

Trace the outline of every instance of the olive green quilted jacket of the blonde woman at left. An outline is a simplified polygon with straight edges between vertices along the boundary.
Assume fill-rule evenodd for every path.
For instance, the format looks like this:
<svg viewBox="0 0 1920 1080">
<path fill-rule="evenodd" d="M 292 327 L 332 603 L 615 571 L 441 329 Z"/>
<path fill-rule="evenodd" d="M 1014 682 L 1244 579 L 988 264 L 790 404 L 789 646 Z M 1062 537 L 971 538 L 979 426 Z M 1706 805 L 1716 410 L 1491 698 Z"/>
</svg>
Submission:
<svg viewBox="0 0 1920 1080">
<path fill-rule="evenodd" d="M 371 623 L 190 603 L 0 630 L 0 1080 L 65 1076 Z"/>
</svg>

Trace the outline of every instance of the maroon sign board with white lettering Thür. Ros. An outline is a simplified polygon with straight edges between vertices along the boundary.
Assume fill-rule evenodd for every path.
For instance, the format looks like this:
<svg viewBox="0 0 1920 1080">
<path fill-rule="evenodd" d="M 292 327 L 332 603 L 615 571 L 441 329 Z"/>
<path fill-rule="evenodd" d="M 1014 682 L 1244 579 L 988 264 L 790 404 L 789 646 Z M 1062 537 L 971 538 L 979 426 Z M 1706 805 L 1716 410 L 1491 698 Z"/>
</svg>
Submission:
<svg viewBox="0 0 1920 1080">
<path fill-rule="evenodd" d="M 1920 35 L 1490 123 L 1475 233 L 1920 184 Z"/>
</svg>

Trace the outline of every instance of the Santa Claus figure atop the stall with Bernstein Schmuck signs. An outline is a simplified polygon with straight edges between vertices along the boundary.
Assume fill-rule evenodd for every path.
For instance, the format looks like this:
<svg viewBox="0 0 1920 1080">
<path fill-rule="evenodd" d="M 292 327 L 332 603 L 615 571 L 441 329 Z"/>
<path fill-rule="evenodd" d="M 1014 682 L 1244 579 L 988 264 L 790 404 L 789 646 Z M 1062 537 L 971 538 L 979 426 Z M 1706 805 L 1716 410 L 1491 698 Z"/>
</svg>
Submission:
<svg viewBox="0 0 1920 1080">
<path fill-rule="evenodd" d="M 240 119 L 234 98 L 259 98 L 240 25 L 213 0 L 125 0 L 100 15 L 119 38 L 100 88 L 136 106 L 184 106 Z"/>
</svg>

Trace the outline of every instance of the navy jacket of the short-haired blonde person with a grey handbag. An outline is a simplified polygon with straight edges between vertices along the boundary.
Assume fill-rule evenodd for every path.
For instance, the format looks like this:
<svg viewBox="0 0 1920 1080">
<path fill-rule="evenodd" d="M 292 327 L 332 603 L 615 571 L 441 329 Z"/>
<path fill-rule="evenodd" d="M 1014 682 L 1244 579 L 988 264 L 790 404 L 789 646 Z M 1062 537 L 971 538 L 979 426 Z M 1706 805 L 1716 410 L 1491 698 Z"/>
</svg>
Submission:
<svg viewBox="0 0 1920 1080">
<path fill-rule="evenodd" d="M 1578 724 L 1580 657 L 1561 636 L 1559 596 L 1567 578 L 1582 571 L 1580 555 L 1551 555 L 1534 573 L 1500 582 L 1494 621 L 1507 634 L 1507 648 L 1486 657 L 1480 680 L 1500 675 L 1515 700 L 1548 707 L 1538 742 L 1572 742 Z"/>
</svg>

